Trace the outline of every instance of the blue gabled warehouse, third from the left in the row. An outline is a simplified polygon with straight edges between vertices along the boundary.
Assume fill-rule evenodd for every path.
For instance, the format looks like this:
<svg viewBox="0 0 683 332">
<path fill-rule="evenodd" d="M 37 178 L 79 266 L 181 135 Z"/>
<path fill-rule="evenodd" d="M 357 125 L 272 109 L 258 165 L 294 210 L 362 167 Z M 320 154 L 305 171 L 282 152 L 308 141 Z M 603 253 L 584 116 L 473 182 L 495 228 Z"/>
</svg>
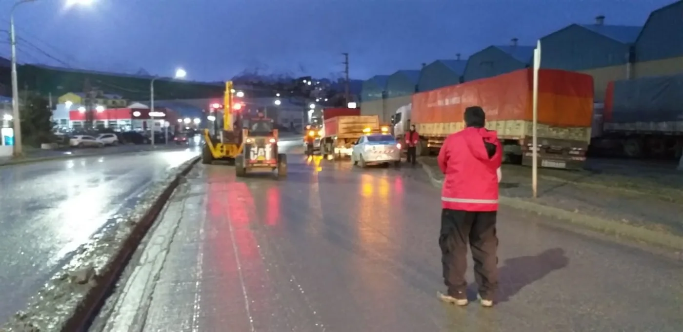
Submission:
<svg viewBox="0 0 683 332">
<path fill-rule="evenodd" d="M 454 60 L 436 60 L 424 66 L 417 81 L 418 91 L 430 91 L 462 83 L 465 66 L 467 60 L 460 59 L 460 54 Z"/>
</svg>

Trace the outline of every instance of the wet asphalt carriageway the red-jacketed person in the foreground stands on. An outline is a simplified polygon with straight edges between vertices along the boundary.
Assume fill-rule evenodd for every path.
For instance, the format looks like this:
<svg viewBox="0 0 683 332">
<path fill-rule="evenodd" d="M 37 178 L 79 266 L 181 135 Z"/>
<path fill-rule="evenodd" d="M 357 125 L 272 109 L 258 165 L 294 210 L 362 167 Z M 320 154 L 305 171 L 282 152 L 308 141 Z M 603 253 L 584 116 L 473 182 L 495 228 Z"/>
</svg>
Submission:
<svg viewBox="0 0 683 332">
<path fill-rule="evenodd" d="M 509 208 L 499 212 L 498 305 L 441 303 L 440 195 L 421 169 L 289 158 L 283 181 L 195 167 L 109 303 L 109 323 L 92 331 L 683 326 L 682 262 Z"/>
</svg>

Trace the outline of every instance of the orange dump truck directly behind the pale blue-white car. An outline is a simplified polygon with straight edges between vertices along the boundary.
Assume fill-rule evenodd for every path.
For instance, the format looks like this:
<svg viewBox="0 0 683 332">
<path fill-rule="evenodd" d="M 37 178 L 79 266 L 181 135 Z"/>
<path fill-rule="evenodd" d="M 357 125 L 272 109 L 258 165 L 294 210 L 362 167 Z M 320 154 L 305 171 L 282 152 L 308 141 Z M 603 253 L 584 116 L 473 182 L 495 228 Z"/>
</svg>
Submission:
<svg viewBox="0 0 683 332">
<path fill-rule="evenodd" d="M 361 115 L 360 109 L 324 109 L 320 130 L 320 154 L 327 158 L 350 156 L 354 143 L 368 130 L 380 130 L 377 115 Z"/>
</svg>

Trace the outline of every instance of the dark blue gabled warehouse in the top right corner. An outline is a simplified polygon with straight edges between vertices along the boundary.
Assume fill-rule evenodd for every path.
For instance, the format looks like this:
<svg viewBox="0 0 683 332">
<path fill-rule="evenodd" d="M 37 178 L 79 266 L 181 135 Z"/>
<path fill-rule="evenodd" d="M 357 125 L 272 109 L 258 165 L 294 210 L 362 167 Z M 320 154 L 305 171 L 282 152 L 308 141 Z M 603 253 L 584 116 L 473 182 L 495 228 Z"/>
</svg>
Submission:
<svg viewBox="0 0 683 332">
<path fill-rule="evenodd" d="M 650 13 L 635 53 L 635 77 L 683 72 L 683 1 Z"/>
</svg>

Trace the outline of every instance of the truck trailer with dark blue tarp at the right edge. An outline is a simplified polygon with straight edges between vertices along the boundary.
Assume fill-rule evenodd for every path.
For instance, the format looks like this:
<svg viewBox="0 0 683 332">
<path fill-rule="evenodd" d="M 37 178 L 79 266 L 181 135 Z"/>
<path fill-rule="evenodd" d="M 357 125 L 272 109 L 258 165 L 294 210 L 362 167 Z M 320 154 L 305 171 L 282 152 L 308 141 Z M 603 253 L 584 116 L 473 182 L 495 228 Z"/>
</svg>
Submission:
<svg viewBox="0 0 683 332">
<path fill-rule="evenodd" d="M 602 114 L 600 114 L 602 113 Z M 596 109 L 590 152 L 678 160 L 683 149 L 683 74 L 613 81 Z"/>
</svg>

